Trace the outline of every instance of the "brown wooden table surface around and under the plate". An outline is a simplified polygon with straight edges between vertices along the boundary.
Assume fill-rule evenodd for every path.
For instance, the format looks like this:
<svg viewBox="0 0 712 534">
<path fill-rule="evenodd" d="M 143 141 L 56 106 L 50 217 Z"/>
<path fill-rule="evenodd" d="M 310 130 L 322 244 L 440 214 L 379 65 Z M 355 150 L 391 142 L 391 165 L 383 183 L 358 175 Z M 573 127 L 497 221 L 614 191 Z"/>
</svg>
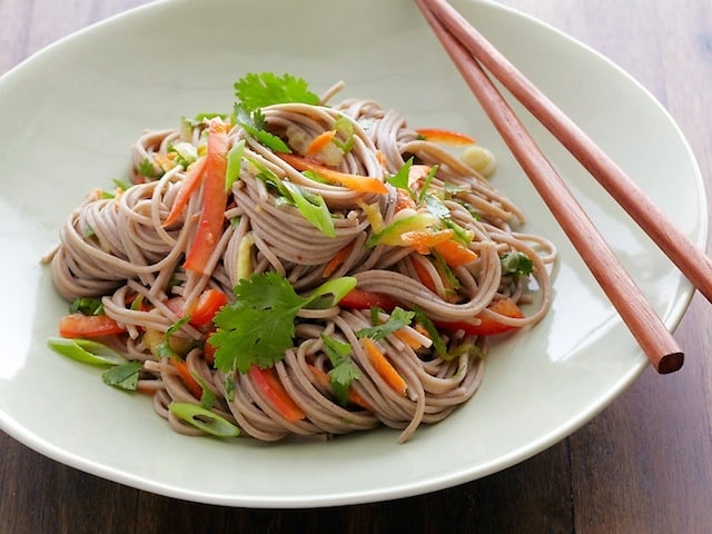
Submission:
<svg viewBox="0 0 712 534">
<path fill-rule="evenodd" d="M 0 72 L 141 3 L 0 0 Z M 712 186 L 709 0 L 502 3 L 574 36 L 637 78 L 675 118 Z M 681 372 L 646 370 L 590 424 L 522 464 L 395 502 L 288 511 L 187 503 L 66 467 L 0 434 L 0 532 L 712 532 L 711 332 L 710 305 L 696 296 L 675 334 L 686 353 Z"/>
</svg>

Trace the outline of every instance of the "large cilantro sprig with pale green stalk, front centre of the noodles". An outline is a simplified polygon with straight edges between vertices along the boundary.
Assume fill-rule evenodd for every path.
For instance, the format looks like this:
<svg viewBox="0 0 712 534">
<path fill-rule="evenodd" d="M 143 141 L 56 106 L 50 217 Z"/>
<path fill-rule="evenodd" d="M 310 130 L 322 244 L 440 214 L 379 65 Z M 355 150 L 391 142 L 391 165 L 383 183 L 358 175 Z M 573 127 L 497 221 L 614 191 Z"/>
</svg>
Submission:
<svg viewBox="0 0 712 534">
<path fill-rule="evenodd" d="M 301 308 L 333 306 L 355 286 L 355 278 L 337 278 L 301 297 L 278 273 L 257 273 L 240 280 L 234 289 L 235 301 L 214 318 L 218 329 L 209 343 L 217 347 L 215 366 L 224 373 L 247 373 L 253 365 L 270 367 L 294 346 L 294 323 Z"/>
</svg>

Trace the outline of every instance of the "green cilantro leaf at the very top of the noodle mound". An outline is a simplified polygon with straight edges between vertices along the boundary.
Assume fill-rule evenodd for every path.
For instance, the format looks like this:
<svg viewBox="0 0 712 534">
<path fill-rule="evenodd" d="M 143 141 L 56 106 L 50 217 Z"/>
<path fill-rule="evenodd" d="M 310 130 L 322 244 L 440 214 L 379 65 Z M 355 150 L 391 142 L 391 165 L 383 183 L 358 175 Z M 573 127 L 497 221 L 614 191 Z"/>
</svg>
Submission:
<svg viewBox="0 0 712 534">
<path fill-rule="evenodd" d="M 279 77 L 274 72 L 249 72 L 235 82 L 235 96 L 248 110 L 274 103 L 304 102 L 317 105 L 320 99 L 309 90 L 308 83 L 291 75 Z"/>
</svg>

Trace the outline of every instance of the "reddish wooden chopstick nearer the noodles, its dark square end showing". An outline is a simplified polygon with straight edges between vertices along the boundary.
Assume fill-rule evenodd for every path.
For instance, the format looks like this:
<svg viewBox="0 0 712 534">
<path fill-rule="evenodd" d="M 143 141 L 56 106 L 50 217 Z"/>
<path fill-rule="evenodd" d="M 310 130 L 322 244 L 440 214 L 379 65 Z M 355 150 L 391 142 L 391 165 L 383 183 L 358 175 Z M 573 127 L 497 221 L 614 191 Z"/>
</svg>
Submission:
<svg viewBox="0 0 712 534">
<path fill-rule="evenodd" d="M 415 1 L 490 117 L 490 120 L 500 131 L 510 150 L 562 229 L 566 233 L 572 245 L 652 365 L 661 374 L 680 369 L 684 355 L 672 334 L 652 309 L 650 303 L 642 295 L 506 100 L 492 83 L 483 67 L 473 58 L 464 43 L 458 40 L 461 33 L 469 36 L 478 36 L 478 33 L 444 0 Z M 457 17 L 453 16 L 452 12 Z M 441 22 L 441 17 L 443 17 L 443 22 Z M 449 21 L 448 28 L 451 30 L 444 26 L 445 21 Z M 484 41 L 482 36 L 475 37 L 475 39 L 481 42 Z M 511 67 L 507 67 L 508 63 L 497 62 L 497 65 L 498 67 L 496 68 L 500 70 L 512 70 Z M 501 81 L 504 83 L 503 80 Z M 636 208 L 631 207 L 631 209 L 635 210 Z M 708 276 L 712 278 L 711 275 L 708 274 Z"/>
</svg>

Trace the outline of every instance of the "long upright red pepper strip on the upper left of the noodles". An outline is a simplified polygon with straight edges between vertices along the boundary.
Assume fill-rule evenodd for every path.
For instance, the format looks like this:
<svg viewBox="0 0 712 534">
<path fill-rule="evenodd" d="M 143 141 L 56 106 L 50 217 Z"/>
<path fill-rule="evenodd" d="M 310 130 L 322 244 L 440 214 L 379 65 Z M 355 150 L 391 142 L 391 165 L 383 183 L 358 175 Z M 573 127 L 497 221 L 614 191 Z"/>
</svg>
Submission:
<svg viewBox="0 0 712 534">
<path fill-rule="evenodd" d="M 204 275 L 209 274 L 207 263 L 217 246 L 225 224 L 228 127 L 229 125 L 220 119 L 211 119 L 208 123 L 208 152 L 202 180 L 202 207 L 192 246 L 186 256 L 186 269 Z"/>
</svg>

